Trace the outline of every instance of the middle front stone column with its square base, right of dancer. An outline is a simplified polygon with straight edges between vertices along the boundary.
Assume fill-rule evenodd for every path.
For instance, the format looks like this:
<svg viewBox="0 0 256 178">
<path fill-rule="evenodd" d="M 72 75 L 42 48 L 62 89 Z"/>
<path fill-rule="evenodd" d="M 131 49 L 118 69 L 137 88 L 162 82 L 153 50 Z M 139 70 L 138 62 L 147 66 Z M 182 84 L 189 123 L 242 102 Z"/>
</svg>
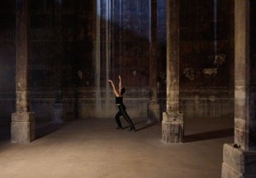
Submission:
<svg viewBox="0 0 256 178">
<path fill-rule="evenodd" d="M 162 121 L 164 143 L 183 143 L 183 114 L 179 109 L 179 0 L 167 1 L 166 112 Z"/>
</svg>

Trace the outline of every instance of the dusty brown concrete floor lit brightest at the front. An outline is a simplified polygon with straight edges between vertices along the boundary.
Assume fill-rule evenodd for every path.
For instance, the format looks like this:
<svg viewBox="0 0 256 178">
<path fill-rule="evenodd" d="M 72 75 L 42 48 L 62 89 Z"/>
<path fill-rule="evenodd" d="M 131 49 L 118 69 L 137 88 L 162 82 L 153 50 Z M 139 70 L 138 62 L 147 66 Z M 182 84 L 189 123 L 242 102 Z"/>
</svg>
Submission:
<svg viewBox="0 0 256 178">
<path fill-rule="evenodd" d="M 133 120 L 135 133 L 116 130 L 114 119 L 37 124 L 37 139 L 26 144 L 10 143 L 9 127 L 0 128 L 0 177 L 220 177 L 223 144 L 233 143 L 233 119 L 185 120 L 181 144 L 161 142 L 161 123 Z"/>
</svg>

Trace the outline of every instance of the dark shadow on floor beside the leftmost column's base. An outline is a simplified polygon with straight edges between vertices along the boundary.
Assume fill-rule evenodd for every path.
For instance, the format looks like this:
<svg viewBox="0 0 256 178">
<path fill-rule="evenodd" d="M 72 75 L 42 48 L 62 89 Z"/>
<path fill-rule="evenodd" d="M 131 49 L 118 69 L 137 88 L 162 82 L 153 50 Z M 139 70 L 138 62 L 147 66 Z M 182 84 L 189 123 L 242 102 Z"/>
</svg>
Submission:
<svg viewBox="0 0 256 178">
<path fill-rule="evenodd" d="M 48 134 L 54 133 L 59 130 L 63 124 L 59 123 L 44 123 L 36 125 L 36 139 L 45 137 Z"/>
</svg>

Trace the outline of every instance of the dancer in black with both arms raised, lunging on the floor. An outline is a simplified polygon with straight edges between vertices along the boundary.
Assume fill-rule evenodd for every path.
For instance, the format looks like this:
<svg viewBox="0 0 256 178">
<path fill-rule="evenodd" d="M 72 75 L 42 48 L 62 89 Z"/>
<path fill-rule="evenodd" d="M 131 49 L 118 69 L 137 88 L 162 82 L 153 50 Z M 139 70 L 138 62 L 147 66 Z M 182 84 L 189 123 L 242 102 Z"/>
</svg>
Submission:
<svg viewBox="0 0 256 178">
<path fill-rule="evenodd" d="M 121 76 L 118 76 L 119 78 L 119 90 L 118 92 L 116 91 L 116 87 L 114 85 L 114 83 L 111 80 L 108 80 L 108 82 L 111 83 L 111 87 L 115 93 L 116 96 L 116 105 L 118 106 L 118 112 L 116 113 L 116 124 L 117 124 L 117 128 L 116 129 L 123 129 L 121 126 L 121 121 L 120 121 L 120 116 L 122 115 L 126 121 L 128 122 L 128 124 L 130 125 L 130 129 L 129 131 L 133 131 L 135 132 L 135 125 L 132 123 L 129 115 L 126 113 L 126 105 L 124 105 L 123 103 L 123 94 L 126 92 L 126 88 L 125 87 L 121 87 Z"/>
</svg>

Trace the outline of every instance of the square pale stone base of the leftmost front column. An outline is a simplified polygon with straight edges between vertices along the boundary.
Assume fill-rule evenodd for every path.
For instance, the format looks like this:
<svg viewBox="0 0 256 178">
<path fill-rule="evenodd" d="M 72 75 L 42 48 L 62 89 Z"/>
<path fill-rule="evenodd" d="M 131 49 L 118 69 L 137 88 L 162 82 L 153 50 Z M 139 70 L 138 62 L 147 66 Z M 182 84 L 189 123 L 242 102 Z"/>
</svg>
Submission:
<svg viewBox="0 0 256 178">
<path fill-rule="evenodd" d="M 36 123 L 34 113 L 12 113 L 11 142 L 30 143 L 35 137 Z"/>
</svg>

